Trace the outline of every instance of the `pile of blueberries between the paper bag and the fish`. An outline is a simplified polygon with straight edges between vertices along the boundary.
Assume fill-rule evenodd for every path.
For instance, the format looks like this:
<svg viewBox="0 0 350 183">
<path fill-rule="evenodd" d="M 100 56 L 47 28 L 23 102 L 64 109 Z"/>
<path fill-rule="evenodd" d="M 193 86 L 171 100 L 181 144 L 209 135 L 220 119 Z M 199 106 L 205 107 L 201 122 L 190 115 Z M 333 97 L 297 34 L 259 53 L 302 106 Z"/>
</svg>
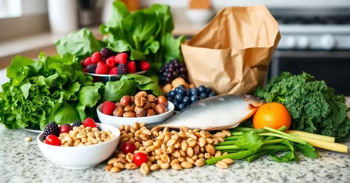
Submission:
<svg viewBox="0 0 350 183">
<path fill-rule="evenodd" d="M 205 87 L 204 85 L 200 85 L 198 88 L 192 87 L 191 89 L 186 89 L 184 85 L 180 85 L 175 90 L 166 93 L 165 97 L 168 101 L 173 102 L 175 110 L 180 111 L 198 100 L 215 95 L 210 87 Z"/>
</svg>

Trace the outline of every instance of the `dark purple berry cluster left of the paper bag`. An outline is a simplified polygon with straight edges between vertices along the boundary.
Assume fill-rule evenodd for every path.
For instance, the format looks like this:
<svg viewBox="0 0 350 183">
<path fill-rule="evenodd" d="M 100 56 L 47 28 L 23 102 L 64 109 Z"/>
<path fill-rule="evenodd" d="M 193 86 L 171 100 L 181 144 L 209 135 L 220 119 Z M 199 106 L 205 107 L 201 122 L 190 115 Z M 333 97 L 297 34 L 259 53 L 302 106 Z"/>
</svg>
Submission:
<svg viewBox="0 0 350 183">
<path fill-rule="evenodd" d="M 159 70 L 159 73 L 160 83 L 163 85 L 172 83 L 172 81 L 177 77 L 182 77 L 187 80 L 186 67 L 177 59 L 174 59 L 169 63 L 165 63 L 164 66 Z"/>
</svg>

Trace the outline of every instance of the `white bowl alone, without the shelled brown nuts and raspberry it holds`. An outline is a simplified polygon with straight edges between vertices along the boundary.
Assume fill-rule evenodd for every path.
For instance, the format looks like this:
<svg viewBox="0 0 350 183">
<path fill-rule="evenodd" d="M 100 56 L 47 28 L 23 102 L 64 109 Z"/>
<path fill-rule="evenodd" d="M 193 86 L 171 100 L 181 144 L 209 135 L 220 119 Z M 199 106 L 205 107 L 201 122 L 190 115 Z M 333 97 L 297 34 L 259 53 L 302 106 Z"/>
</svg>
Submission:
<svg viewBox="0 0 350 183">
<path fill-rule="evenodd" d="M 146 116 L 146 117 L 117 117 L 117 116 L 110 116 L 107 114 L 103 114 L 102 105 L 103 104 L 100 104 L 96 109 L 98 119 L 100 120 L 101 123 L 110 124 L 110 125 L 113 125 L 114 127 L 119 127 L 122 124 L 133 125 L 134 122 L 146 123 L 146 124 L 161 122 L 168 119 L 170 116 L 174 115 L 174 108 L 175 108 L 174 104 L 168 101 L 167 112 L 163 114 Z"/>
</svg>

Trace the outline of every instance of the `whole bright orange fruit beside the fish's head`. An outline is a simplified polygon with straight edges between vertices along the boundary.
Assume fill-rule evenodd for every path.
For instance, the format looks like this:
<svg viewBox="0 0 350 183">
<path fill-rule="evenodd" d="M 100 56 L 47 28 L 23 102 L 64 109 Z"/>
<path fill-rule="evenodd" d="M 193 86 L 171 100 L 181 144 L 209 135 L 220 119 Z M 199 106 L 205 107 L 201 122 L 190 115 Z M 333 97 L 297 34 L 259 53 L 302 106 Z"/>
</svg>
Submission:
<svg viewBox="0 0 350 183">
<path fill-rule="evenodd" d="M 277 102 L 270 102 L 260 106 L 253 116 L 255 129 L 264 128 L 264 126 L 279 129 L 283 125 L 288 129 L 291 122 L 292 117 L 287 108 Z"/>
</svg>

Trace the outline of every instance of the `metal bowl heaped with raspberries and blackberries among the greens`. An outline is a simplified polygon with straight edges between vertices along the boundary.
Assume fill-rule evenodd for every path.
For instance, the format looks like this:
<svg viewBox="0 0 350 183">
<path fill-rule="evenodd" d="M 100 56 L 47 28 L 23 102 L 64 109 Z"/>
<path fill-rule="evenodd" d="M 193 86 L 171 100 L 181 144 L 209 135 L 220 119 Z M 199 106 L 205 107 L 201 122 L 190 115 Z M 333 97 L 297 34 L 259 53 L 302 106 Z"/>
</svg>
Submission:
<svg viewBox="0 0 350 183">
<path fill-rule="evenodd" d="M 123 74 L 147 73 L 150 64 L 144 60 L 130 60 L 128 53 L 115 53 L 107 47 L 80 61 L 83 72 L 94 82 L 118 81 Z"/>
</svg>

